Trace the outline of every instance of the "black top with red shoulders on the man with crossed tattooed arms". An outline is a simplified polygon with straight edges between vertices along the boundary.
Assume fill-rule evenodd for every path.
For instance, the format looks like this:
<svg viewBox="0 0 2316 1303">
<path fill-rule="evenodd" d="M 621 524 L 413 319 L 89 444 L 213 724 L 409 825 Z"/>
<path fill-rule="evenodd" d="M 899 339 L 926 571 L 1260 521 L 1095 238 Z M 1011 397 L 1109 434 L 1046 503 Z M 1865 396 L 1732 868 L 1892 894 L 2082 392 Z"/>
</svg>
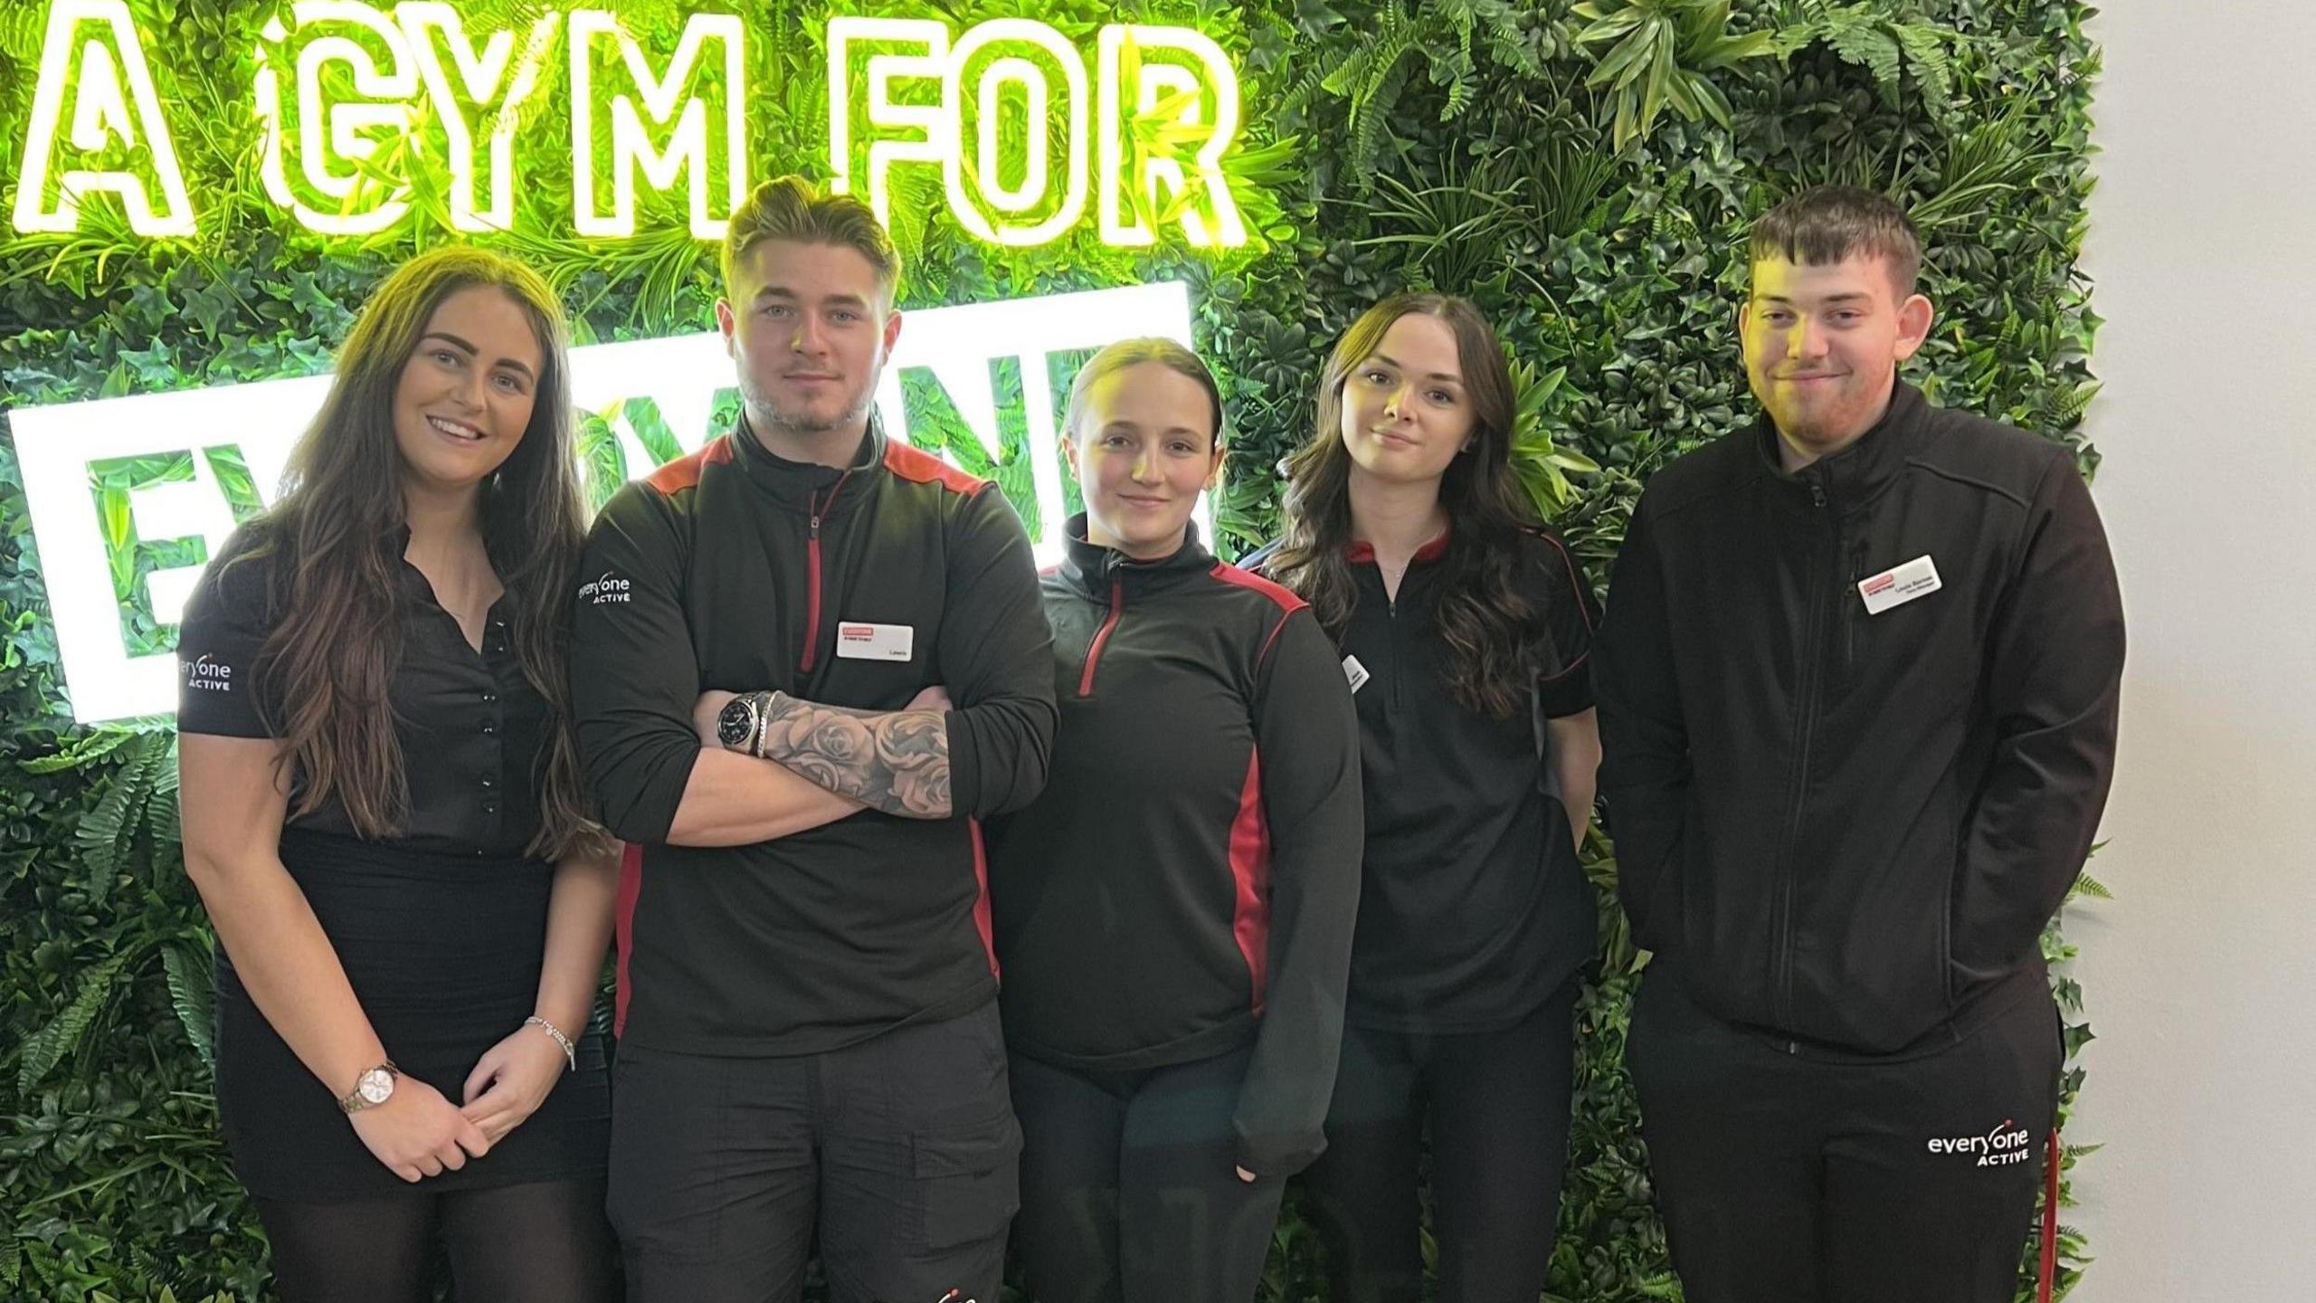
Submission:
<svg viewBox="0 0 2316 1303">
<path fill-rule="evenodd" d="M 838 624 L 908 626 L 910 656 L 845 656 Z M 1049 645 L 1028 538 L 996 485 L 875 424 L 845 468 L 774 457 L 743 424 L 614 494 L 579 577 L 572 707 L 602 821 L 630 842 L 623 1034 L 804 1055 L 987 1004 L 977 818 L 1045 786 Z M 667 844 L 702 691 L 901 709 L 929 684 L 957 703 L 954 818 L 864 809 L 755 846 Z"/>
</svg>

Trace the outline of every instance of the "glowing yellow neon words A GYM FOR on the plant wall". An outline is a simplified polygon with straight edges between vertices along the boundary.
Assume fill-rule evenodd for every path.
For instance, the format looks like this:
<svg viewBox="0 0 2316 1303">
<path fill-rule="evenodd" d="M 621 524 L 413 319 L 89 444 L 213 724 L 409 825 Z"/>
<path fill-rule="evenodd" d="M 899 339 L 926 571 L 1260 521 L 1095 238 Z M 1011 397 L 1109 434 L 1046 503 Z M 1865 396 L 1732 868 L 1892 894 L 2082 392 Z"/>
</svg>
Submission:
<svg viewBox="0 0 2316 1303">
<path fill-rule="evenodd" d="M 266 197 L 327 236 L 410 220 L 408 169 L 431 155 L 412 148 L 422 132 L 442 139 L 449 225 L 512 230 L 521 169 L 560 165 L 514 151 L 558 72 L 574 234 L 632 236 L 639 195 L 655 192 L 681 197 L 692 236 L 723 239 L 757 176 L 746 107 L 762 58 L 734 14 L 686 16 L 674 49 L 655 56 L 607 9 L 470 32 L 445 0 L 294 0 L 250 56 Z M 827 169 L 878 216 L 892 211 L 894 174 L 924 167 L 957 223 L 989 243 L 1063 239 L 1089 209 L 1114 246 L 1246 243 L 1223 169 L 1239 139 L 1239 79 L 1204 32 L 1109 23 L 1089 72 L 1084 51 L 1031 19 L 952 32 L 936 19 L 838 16 L 827 88 Z M 141 236 L 199 234 L 127 0 L 53 0 L 14 225 L 74 232 L 93 195 L 113 195 Z"/>
</svg>

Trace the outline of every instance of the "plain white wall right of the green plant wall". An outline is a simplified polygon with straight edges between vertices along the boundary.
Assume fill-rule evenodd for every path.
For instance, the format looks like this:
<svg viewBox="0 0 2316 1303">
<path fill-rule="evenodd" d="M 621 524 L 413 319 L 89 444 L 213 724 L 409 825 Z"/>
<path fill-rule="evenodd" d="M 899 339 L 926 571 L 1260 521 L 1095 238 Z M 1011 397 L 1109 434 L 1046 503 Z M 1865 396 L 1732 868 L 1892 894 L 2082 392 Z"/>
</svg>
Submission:
<svg viewBox="0 0 2316 1303">
<path fill-rule="evenodd" d="M 2131 624 L 2068 916 L 2082 1303 L 2316 1296 L 2316 5 L 2108 0 L 2089 434 Z"/>
</svg>

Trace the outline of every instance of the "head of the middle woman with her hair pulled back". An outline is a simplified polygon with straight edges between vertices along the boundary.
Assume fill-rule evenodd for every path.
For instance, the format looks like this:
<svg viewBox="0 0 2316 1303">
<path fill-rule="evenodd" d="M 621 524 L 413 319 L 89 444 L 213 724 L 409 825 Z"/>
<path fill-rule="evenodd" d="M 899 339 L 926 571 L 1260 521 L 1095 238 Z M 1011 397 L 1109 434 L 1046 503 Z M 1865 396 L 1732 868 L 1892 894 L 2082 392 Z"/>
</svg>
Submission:
<svg viewBox="0 0 2316 1303">
<path fill-rule="evenodd" d="M 1086 543 L 1158 561 L 1181 547 L 1197 494 L 1223 471 L 1214 399 L 1163 362 L 1135 362 L 1086 390 L 1061 452 L 1086 494 Z"/>
</svg>

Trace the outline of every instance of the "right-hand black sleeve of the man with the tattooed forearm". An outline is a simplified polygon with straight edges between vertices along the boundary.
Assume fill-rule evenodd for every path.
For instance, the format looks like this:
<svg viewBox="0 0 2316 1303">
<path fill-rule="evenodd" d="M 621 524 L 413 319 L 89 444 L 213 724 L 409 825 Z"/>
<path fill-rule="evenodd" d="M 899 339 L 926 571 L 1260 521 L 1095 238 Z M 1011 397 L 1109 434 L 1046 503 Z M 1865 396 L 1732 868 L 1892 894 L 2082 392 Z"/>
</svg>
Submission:
<svg viewBox="0 0 2316 1303">
<path fill-rule="evenodd" d="M 1054 631 L 1038 600 L 1028 533 L 996 485 L 966 501 L 952 531 L 940 617 L 940 677 L 957 703 L 950 809 L 987 818 L 1045 788 L 1058 723 Z"/>
</svg>

